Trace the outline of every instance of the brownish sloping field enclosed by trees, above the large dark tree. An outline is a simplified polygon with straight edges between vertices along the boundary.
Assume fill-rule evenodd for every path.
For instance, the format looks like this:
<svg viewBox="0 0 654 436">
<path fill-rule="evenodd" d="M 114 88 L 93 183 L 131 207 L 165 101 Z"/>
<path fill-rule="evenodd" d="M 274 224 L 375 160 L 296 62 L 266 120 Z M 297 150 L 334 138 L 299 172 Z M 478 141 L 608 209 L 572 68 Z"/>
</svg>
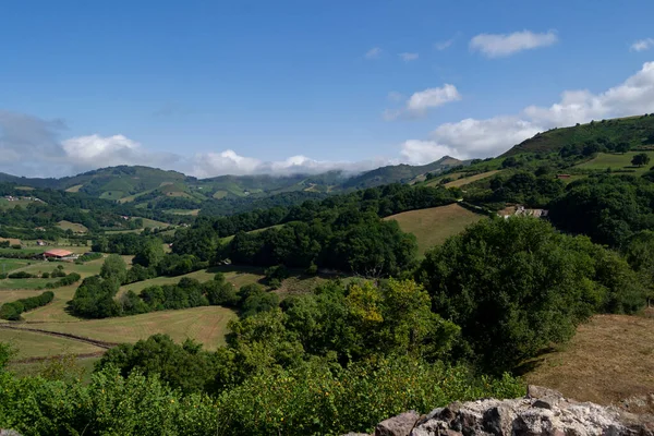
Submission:
<svg viewBox="0 0 654 436">
<path fill-rule="evenodd" d="M 428 249 L 441 244 L 452 234 L 460 233 L 465 227 L 483 217 L 483 215 L 470 211 L 458 204 L 451 204 L 404 211 L 384 219 L 395 219 L 402 231 L 415 234 L 419 256 L 423 256 Z"/>
</svg>

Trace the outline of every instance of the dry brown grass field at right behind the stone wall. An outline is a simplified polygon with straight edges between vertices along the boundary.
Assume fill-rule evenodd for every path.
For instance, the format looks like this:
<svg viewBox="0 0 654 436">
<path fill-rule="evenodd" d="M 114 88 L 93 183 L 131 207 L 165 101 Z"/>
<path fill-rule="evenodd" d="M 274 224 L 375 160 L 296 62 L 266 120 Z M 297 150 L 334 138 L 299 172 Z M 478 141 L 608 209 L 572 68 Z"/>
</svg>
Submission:
<svg viewBox="0 0 654 436">
<path fill-rule="evenodd" d="M 570 343 L 536 360 L 528 383 L 608 404 L 654 392 L 654 318 L 596 315 Z"/>
</svg>

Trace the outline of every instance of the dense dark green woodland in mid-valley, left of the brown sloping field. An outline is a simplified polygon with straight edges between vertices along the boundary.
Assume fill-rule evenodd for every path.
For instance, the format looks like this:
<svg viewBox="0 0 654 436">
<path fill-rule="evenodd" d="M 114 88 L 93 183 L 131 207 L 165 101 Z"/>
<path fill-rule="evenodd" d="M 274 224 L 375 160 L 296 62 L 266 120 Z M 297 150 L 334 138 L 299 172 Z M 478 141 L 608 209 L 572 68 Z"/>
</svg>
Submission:
<svg viewBox="0 0 654 436">
<path fill-rule="evenodd" d="M 413 237 L 380 218 L 455 202 L 445 187 L 387 185 L 218 219 L 198 219 L 175 233 L 172 251 L 210 264 L 324 267 L 366 276 L 397 275 L 410 267 Z M 278 226 L 283 225 L 283 226 Z M 272 227 L 277 226 L 277 227 Z M 271 227 L 261 232 L 252 230 Z M 232 237 L 227 246 L 222 238 Z"/>
</svg>

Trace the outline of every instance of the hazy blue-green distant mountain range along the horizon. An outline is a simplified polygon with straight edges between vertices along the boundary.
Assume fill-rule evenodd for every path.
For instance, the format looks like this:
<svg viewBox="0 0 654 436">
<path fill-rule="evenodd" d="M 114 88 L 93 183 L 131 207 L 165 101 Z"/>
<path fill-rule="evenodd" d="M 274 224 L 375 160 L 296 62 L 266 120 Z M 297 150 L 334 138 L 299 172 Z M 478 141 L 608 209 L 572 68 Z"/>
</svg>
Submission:
<svg viewBox="0 0 654 436">
<path fill-rule="evenodd" d="M 78 192 L 143 206 L 166 201 L 170 208 L 192 209 L 211 198 L 265 198 L 291 192 L 330 193 L 388 183 L 409 183 L 422 174 L 465 164 L 446 156 L 424 166 L 387 166 L 355 177 L 342 171 L 328 171 L 319 174 L 219 175 L 208 179 L 150 167 L 118 166 L 61 179 L 29 179 L 0 173 L 0 182 Z"/>
</svg>

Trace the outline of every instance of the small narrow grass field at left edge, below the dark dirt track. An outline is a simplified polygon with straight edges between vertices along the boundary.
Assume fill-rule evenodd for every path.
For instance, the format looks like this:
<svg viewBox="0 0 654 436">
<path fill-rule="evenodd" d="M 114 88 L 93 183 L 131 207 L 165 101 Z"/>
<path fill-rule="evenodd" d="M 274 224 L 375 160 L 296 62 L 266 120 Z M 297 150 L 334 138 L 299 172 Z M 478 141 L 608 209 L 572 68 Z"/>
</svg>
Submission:
<svg viewBox="0 0 654 436">
<path fill-rule="evenodd" d="M 17 354 L 14 356 L 14 360 L 105 351 L 102 348 L 74 339 L 9 328 L 0 328 L 0 342 L 8 342 L 16 349 Z"/>
</svg>

